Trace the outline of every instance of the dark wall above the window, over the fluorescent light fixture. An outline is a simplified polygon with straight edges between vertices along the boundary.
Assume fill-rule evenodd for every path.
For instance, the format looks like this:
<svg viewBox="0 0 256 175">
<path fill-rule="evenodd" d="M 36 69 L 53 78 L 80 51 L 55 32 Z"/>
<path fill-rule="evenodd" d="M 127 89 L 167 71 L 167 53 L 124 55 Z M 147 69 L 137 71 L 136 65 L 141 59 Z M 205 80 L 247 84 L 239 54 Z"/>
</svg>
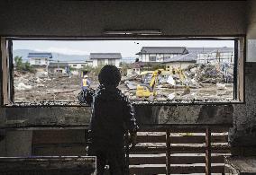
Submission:
<svg viewBox="0 0 256 175">
<path fill-rule="evenodd" d="M 100 36 L 105 30 L 165 35 L 245 34 L 246 1 L 1 1 L 0 35 Z"/>
</svg>

